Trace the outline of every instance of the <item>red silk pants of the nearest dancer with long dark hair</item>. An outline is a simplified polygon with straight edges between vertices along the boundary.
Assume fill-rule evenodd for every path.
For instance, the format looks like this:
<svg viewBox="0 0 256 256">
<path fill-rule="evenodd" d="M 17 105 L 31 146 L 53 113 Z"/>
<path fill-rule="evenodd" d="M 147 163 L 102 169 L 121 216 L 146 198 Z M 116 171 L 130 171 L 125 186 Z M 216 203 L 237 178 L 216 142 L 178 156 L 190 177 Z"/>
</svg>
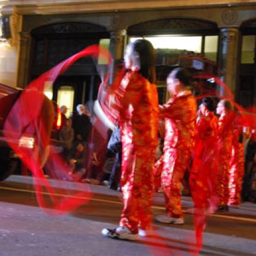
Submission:
<svg viewBox="0 0 256 256">
<path fill-rule="evenodd" d="M 152 220 L 155 146 L 123 143 L 121 189 L 124 208 L 120 226 L 138 233 L 138 225 L 147 229 Z"/>
</svg>

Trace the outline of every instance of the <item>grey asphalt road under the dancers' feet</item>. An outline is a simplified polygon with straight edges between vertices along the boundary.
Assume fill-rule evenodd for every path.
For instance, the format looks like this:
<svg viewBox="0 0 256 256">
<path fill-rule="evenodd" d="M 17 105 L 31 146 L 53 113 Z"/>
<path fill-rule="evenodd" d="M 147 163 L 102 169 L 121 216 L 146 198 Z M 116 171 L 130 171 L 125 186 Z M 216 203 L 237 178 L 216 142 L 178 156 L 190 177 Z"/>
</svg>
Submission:
<svg viewBox="0 0 256 256">
<path fill-rule="evenodd" d="M 49 180 L 57 196 L 86 191 L 86 185 Z M 185 224 L 153 223 L 154 233 L 140 241 L 101 235 L 118 224 L 121 193 L 90 185 L 88 204 L 63 216 L 46 214 L 36 201 L 31 177 L 11 176 L 0 183 L 0 256 L 193 255 L 195 236 L 189 197 L 182 198 Z M 74 196 L 75 198 L 76 196 Z M 51 202 L 45 192 L 45 201 Z M 164 214 L 163 194 L 154 197 L 154 214 Z M 256 204 L 243 203 L 229 213 L 208 217 L 199 255 L 256 255 Z"/>
</svg>

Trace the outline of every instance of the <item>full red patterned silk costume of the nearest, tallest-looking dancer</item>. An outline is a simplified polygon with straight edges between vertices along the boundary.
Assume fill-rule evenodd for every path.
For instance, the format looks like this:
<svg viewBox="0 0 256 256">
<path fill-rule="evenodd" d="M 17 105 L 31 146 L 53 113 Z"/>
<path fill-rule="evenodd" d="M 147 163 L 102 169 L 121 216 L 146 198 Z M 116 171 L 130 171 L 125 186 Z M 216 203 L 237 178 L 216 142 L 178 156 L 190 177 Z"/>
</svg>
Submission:
<svg viewBox="0 0 256 256">
<path fill-rule="evenodd" d="M 121 189 L 124 208 L 120 226 L 138 233 L 152 220 L 153 174 L 158 135 L 157 88 L 138 71 L 129 71 L 114 92 L 120 113 Z"/>
</svg>

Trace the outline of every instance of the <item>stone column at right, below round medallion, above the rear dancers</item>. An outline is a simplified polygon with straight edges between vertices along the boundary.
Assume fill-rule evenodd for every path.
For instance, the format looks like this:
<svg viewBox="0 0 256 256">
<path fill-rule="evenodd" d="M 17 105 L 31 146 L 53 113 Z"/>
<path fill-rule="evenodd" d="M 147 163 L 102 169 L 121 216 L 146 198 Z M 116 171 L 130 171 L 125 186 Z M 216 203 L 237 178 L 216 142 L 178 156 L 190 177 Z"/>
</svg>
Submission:
<svg viewBox="0 0 256 256">
<path fill-rule="evenodd" d="M 238 28 L 220 30 L 220 54 L 218 58 L 219 75 L 227 87 L 235 95 L 238 78 Z"/>
</svg>

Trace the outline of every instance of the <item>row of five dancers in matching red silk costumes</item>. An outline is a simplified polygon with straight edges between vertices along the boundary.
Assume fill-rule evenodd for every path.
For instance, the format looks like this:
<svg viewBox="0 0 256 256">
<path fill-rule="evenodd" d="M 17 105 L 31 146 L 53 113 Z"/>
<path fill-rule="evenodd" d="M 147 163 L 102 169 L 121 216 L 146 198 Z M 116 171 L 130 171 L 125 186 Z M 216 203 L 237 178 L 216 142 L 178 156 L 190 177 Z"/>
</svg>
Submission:
<svg viewBox="0 0 256 256">
<path fill-rule="evenodd" d="M 218 102 L 219 118 L 214 114 L 215 102 L 210 97 L 203 98 L 198 108 L 190 86 L 191 74 L 178 67 L 167 77 L 171 98 L 158 105 L 154 48 L 148 40 L 139 39 L 127 45 L 124 65 L 128 71 L 108 98 L 119 113 L 123 211 L 119 226 L 103 229 L 102 235 L 129 240 L 146 236 L 151 229 L 155 184 L 161 184 L 166 204 L 166 214 L 156 216 L 155 220 L 183 224 L 181 191 L 188 168 L 196 210 L 214 213 L 217 208 L 227 210 L 230 203 L 240 204 L 243 158 L 232 102 Z M 164 148 L 155 163 L 160 120 L 165 123 Z"/>
</svg>

